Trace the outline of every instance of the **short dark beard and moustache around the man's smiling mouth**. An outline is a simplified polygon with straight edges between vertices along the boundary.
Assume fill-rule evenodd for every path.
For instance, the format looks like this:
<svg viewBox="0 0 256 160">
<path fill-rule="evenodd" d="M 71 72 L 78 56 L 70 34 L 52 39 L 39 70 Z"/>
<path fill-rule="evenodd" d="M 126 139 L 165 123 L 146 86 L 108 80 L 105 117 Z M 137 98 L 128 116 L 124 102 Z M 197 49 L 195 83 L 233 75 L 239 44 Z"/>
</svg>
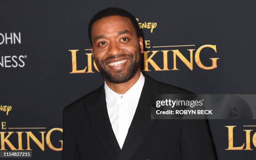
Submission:
<svg viewBox="0 0 256 160">
<path fill-rule="evenodd" d="M 110 60 L 112 58 L 118 58 L 118 57 L 126 57 L 129 59 L 127 69 L 125 70 L 118 70 L 118 71 L 112 71 L 108 69 L 108 64 L 106 63 L 107 60 Z M 128 80 L 131 80 L 139 69 L 141 65 L 141 48 L 137 47 L 135 53 L 120 53 L 116 56 L 110 55 L 106 57 L 103 60 L 98 60 L 95 57 L 95 64 L 97 65 L 101 75 L 105 78 L 106 81 L 111 83 L 123 83 L 127 82 Z"/>
</svg>

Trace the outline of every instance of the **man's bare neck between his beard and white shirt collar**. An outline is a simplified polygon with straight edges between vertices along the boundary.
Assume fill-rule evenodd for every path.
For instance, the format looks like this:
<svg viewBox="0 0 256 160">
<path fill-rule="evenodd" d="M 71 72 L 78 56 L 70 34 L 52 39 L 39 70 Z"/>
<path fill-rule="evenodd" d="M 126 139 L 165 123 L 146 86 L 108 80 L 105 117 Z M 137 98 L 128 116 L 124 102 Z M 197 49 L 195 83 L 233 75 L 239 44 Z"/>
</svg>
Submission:
<svg viewBox="0 0 256 160">
<path fill-rule="evenodd" d="M 140 78 L 141 70 L 137 70 L 135 75 L 131 78 L 131 80 L 128 80 L 127 82 L 123 83 L 111 83 L 108 81 L 105 81 L 108 87 L 110 87 L 111 90 L 118 94 L 124 94 L 127 92 Z"/>
</svg>

